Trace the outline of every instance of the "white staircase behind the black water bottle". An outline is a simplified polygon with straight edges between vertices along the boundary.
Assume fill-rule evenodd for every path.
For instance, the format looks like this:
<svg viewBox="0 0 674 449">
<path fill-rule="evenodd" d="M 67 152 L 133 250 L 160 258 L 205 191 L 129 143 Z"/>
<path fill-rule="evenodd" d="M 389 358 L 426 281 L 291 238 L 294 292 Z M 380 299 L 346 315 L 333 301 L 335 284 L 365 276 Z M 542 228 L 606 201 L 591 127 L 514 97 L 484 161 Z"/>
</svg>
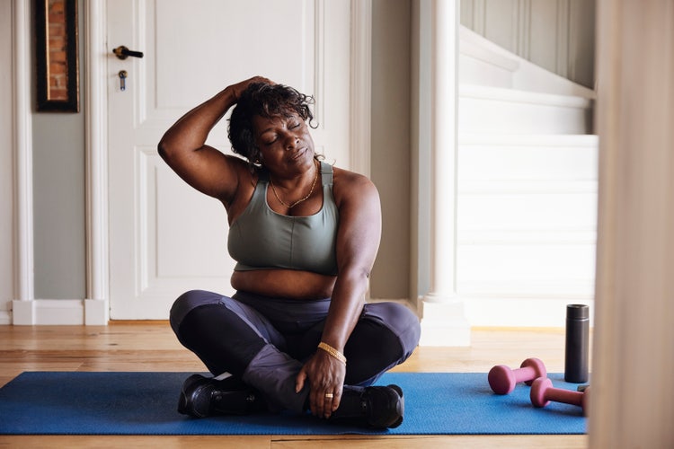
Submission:
<svg viewBox="0 0 674 449">
<path fill-rule="evenodd" d="M 594 92 L 462 27 L 457 294 L 473 326 L 563 326 L 592 304 Z"/>
</svg>

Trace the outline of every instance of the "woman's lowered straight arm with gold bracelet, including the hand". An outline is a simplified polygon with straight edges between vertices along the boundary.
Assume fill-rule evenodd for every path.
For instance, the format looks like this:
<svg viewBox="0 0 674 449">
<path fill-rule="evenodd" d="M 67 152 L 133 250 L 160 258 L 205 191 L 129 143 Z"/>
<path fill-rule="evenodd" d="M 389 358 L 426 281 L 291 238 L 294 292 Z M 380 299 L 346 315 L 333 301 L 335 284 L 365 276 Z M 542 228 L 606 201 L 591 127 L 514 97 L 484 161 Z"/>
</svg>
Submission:
<svg viewBox="0 0 674 449">
<path fill-rule="evenodd" d="M 365 304 L 368 277 L 381 239 L 381 206 L 372 181 L 357 173 L 337 170 L 333 195 L 340 212 L 338 275 L 321 341 L 343 354 Z M 339 407 L 345 374 L 346 365 L 317 349 L 297 374 L 297 392 L 308 380 L 312 413 L 329 418 Z M 333 398 L 325 397 L 326 393 L 333 393 Z"/>
</svg>

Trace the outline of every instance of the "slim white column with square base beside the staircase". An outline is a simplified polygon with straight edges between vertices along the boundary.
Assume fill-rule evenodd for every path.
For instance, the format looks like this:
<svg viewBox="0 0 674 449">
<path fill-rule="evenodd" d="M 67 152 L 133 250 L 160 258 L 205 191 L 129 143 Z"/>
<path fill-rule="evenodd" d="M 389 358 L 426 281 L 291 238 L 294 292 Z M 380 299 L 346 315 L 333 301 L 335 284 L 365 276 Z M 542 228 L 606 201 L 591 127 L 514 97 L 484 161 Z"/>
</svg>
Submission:
<svg viewBox="0 0 674 449">
<path fill-rule="evenodd" d="M 468 346 L 457 296 L 457 62 L 459 2 L 431 2 L 430 292 L 421 304 L 421 345 Z"/>
</svg>

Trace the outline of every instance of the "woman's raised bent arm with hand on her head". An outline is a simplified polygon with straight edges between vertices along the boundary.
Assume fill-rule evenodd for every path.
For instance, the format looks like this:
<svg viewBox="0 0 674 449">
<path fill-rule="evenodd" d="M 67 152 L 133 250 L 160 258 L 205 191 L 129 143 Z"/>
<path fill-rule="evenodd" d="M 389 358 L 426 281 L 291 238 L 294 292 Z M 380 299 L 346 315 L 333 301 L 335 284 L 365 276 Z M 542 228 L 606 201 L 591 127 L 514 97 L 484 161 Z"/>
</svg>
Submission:
<svg viewBox="0 0 674 449">
<path fill-rule="evenodd" d="M 231 203 L 235 196 L 243 164 L 239 158 L 205 145 L 206 139 L 226 111 L 236 104 L 240 93 L 254 82 L 270 83 L 266 78 L 255 76 L 227 86 L 178 119 L 158 145 L 159 154 L 183 180 L 225 204 Z"/>
</svg>

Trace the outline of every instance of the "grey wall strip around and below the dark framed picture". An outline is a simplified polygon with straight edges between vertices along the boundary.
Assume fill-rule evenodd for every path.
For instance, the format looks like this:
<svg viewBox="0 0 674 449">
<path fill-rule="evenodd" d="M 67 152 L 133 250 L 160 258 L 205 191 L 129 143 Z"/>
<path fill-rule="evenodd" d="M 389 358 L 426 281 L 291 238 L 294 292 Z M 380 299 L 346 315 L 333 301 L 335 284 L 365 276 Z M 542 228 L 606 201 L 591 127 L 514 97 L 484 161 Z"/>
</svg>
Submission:
<svg viewBox="0 0 674 449">
<path fill-rule="evenodd" d="M 33 110 L 32 114 L 37 299 L 79 299 L 86 295 L 84 0 L 78 1 L 78 8 L 80 112 Z M 36 98 L 34 89 L 32 98 Z"/>
</svg>

